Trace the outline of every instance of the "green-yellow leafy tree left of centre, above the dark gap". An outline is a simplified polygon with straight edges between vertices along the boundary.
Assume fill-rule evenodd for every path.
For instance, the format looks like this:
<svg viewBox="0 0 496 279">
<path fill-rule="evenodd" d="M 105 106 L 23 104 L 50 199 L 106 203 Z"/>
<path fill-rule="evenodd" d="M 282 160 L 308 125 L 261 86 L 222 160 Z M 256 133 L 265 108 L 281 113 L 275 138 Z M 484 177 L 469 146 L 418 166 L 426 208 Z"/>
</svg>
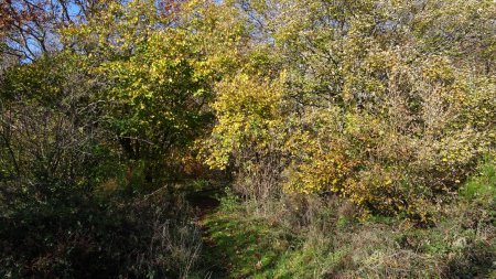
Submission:
<svg viewBox="0 0 496 279">
<path fill-rule="evenodd" d="M 181 161 L 212 121 L 206 104 L 213 76 L 202 71 L 201 45 L 177 4 L 161 12 L 153 1 L 111 3 L 65 31 L 88 55 L 107 128 L 147 184 L 182 173 Z"/>
</svg>

